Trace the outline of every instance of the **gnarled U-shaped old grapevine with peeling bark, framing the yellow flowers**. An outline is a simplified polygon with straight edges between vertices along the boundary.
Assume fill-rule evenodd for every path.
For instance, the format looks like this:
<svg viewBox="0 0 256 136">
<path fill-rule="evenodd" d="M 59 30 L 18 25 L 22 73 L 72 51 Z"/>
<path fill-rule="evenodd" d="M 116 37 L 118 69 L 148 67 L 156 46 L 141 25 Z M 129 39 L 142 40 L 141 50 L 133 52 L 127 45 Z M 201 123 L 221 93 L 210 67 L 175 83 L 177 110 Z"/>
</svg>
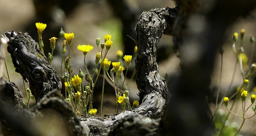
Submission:
<svg viewBox="0 0 256 136">
<path fill-rule="evenodd" d="M 37 104 L 32 107 L 31 111 L 25 110 L 20 114 L 13 115 L 20 124 L 11 123 L 11 127 L 23 128 L 21 134 L 24 135 L 36 135 L 35 131 L 40 132 L 39 135 L 44 134 L 40 125 L 44 125 L 44 119 L 51 120 L 54 116 L 57 120 L 60 119 L 60 126 L 67 130 L 63 132 L 69 135 L 121 135 L 128 132 L 142 135 L 156 134 L 159 120 L 154 119 L 159 119 L 162 116 L 163 107 L 169 100 L 169 91 L 165 80 L 158 72 L 156 63 L 157 44 L 163 33 L 172 33 L 176 12 L 176 9 L 171 8 L 155 8 L 144 11 L 140 16 L 136 27 L 138 34 L 136 82 L 140 90 L 140 106 L 133 111 L 123 111 L 109 116 L 107 119 L 87 116 L 81 117 L 80 122 L 77 122 L 75 113 L 60 96 L 59 78 L 39 50 L 38 44 L 28 34 L 6 32 L 4 37 L 9 41 L 8 52 L 11 53 L 16 71 L 29 81 L 32 94 L 37 98 Z M 54 88 L 57 90 L 51 91 Z M 28 124 L 32 124 L 32 127 L 26 128 L 22 119 L 18 119 L 19 117 L 25 118 Z M 120 127 L 123 128 L 122 131 L 119 130 Z M 133 129 L 130 129 L 131 127 Z M 59 128 L 53 127 L 50 130 L 54 131 L 54 129 Z M 15 130 L 19 131 L 20 129 Z M 61 133 L 61 131 L 58 132 Z"/>
</svg>

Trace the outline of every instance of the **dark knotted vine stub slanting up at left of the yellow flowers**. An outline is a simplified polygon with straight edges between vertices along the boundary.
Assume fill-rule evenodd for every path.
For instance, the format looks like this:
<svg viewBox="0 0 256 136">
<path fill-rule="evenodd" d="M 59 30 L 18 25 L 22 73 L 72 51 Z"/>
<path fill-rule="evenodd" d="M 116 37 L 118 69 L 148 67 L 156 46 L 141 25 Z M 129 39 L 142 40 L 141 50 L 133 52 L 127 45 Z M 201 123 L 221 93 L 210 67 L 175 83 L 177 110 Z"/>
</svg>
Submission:
<svg viewBox="0 0 256 136">
<path fill-rule="evenodd" d="M 20 73 L 35 99 L 41 101 L 47 92 L 61 89 L 61 82 L 56 71 L 42 54 L 38 44 L 27 34 L 5 32 L 8 41 L 7 50 L 11 54 L 16 72 Z"/>
</svg>

